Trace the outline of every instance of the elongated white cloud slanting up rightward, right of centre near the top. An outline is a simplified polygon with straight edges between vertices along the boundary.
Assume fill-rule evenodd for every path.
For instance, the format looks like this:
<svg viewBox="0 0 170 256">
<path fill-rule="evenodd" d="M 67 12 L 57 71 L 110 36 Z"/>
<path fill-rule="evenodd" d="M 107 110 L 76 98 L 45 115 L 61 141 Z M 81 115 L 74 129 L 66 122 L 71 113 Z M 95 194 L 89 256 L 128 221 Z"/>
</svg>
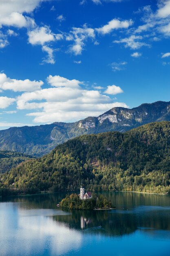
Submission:
<svg viewBox="0 0 170 256">
<path fill-rule="evenodd" d="M 109 34 L 114 29 L 127 29 L 129 26 L 133 24 L 132 20 L 117 20 L 113 19 L 108 22 L 107 25 L 104 25 L 103 27 L 97 28 L 97 32 L 101 34 Z"/>
</svg>

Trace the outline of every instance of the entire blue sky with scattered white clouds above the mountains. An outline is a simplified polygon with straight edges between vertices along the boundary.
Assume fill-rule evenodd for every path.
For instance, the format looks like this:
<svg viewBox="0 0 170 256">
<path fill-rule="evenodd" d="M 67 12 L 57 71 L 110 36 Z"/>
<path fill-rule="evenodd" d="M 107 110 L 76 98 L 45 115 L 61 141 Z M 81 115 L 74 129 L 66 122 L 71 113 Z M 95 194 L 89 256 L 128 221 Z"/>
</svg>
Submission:
<svg viewBox="0 0 170 256">
<path fill-rule="evenodd" d="M 170 101 L 170 0 L 1 0 L 0 129 Z"/>
</svg>

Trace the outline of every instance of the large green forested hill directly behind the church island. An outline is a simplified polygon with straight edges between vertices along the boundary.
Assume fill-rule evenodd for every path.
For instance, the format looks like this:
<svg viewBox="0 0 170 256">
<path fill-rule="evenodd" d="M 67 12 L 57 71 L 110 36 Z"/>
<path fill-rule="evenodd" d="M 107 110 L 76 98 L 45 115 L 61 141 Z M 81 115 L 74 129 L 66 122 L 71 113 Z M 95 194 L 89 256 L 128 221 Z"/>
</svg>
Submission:
<svg viewBox="0 0 170 256">
<path fill-rule="evenodd" d="M 166 193 L 170 191 L 170 122 L 124 133 L 83 135 L 3 177 L 4 187 L 15 182 L 15 188 L 26 193 L 75 190 L 81 180 L 91 191 Z"/>
</svg>

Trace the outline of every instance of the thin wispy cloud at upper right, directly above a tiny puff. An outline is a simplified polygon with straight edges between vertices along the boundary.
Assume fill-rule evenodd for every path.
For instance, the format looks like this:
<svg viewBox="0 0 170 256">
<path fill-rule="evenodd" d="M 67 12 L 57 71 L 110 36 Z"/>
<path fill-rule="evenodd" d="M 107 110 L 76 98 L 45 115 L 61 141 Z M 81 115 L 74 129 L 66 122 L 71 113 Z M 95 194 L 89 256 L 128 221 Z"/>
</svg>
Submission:
<svg viewBox="0 0 170 256">
<path fill-rule="evenodd" d="M 139 49 L 142 46 L 150 46 L 149 44 L 142 42 L 142 39 L 142 36 L 131 35 L 128 38 L 114 40 L 113 43 L 123 43 L 125 45 L 125 48 L 130 47 L 130 49 Z"/>
</svg>

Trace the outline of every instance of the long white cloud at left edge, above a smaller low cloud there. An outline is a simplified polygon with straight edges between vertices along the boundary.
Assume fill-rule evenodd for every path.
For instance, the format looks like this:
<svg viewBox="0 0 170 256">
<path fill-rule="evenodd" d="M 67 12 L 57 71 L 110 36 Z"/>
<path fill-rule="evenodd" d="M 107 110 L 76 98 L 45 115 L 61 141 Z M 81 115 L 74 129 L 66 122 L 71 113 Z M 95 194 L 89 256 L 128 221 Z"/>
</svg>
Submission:
<svg viewBox="0 0 170 256">
<path fill-rule="evenodd" d="M 6 74 L 0 73 L 0 88 L 2 90 L 13 90 L 14 92 L 32 92 L 34 90 L 39 90 L 42 85 L 42 81 L 10 79 Z"/>
</svg>

